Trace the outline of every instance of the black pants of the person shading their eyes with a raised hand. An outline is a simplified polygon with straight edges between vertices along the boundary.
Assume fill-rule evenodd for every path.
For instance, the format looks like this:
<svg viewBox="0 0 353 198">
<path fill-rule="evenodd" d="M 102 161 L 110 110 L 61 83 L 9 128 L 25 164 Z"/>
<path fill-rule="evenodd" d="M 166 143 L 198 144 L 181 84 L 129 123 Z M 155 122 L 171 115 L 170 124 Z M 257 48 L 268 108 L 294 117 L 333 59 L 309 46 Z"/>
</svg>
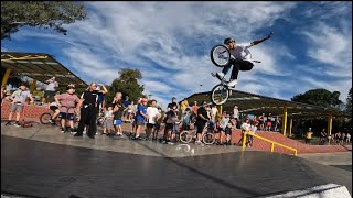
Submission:
<svg viewBox="0 0 353 198">
<path fill-rule="evenodd" d="M 78 122 L 77 134 L 82 135 L 84 132 L 84 128 L 87 124 L 88 125 L 87 135 L 94 136 L 97 131 L 97 114 L 98 114 L 98 108 L 95 106 L 81 108 L 81 118 Z"/>
</svg>

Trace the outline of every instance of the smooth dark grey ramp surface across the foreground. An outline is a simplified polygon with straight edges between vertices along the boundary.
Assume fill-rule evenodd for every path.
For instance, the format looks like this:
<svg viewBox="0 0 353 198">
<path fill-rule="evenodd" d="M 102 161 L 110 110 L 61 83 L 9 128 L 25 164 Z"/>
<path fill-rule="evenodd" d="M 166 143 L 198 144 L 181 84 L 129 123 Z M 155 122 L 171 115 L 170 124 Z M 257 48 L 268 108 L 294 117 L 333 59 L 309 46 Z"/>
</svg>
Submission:
<svg viewBox="0 0 353 198">
<path fill-rule="evenodd" d="M 352 172 L 268 152 L 147 156 L 1 135 L 1 193 L 28 197 L 266 197 Z"/>
</svg>

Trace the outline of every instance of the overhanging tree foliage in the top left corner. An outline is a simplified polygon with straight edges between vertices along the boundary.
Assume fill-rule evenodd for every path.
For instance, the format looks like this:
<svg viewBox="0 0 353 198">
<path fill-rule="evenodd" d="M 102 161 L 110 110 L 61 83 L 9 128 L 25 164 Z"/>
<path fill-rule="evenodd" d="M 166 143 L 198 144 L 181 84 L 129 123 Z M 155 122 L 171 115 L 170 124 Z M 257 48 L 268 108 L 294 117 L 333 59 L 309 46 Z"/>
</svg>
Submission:
<svg viewBox="0 0 353 198">
<path fill-rule="evenodd" d="M 10 40 L 21 26 L 53 29 L 66 35 L 63 24 L 85 18 L 84 6 L 72 1 L 1 1 L 1 40 Z"/>
</svg>

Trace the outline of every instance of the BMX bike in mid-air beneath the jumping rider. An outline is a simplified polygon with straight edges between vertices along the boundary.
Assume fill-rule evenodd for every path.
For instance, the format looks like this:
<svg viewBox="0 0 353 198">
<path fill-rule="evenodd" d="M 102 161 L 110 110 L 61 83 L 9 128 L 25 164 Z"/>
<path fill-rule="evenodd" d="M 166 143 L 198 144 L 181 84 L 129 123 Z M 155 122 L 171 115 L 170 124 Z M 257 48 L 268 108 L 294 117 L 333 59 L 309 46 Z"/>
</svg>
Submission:
<svg viewBox="0 0 353 198">
<path fill-rule="evenodd" d="M 216 45 L 211 50 L 211 61 L 217 67 L 227 66 L 231 63 L 232 58 L 234 57 L 232 57 L 229 48 L 226 45 Z M 254 59 L 247 59 L 247 61 L 253 63 L 260 63 L 259 61 L 254 61 Z M 216 74 L 214 73 L 211 73 L 211 75 L 213 77 L 216 76 Z M 221 84 L 213 87 L 211 91 L 211 101 L 214 105 L 221 106 L 228 100 L 229 95 L 232 95 L 232 88 L 227 86 L 228 82 L 229 80 L 223 77 L 221 79 Z"/>
</svg>

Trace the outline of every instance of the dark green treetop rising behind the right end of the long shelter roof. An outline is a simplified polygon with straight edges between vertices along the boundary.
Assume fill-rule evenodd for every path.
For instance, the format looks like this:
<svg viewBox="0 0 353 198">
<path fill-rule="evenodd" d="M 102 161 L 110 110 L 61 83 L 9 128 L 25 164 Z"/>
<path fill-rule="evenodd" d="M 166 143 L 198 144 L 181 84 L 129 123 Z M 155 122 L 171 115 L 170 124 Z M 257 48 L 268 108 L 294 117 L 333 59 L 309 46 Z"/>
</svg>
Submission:
<svg viewBox="0 0 353 198">
<path fill-rule="evenodd" d="M 327 89 L 311 89 L 291 98 L 292 101 L 321 106 L 324 108 L 336 108 L 343 102 L 339 99 L 340 91 L 328 91 Z"/>
</svg>

